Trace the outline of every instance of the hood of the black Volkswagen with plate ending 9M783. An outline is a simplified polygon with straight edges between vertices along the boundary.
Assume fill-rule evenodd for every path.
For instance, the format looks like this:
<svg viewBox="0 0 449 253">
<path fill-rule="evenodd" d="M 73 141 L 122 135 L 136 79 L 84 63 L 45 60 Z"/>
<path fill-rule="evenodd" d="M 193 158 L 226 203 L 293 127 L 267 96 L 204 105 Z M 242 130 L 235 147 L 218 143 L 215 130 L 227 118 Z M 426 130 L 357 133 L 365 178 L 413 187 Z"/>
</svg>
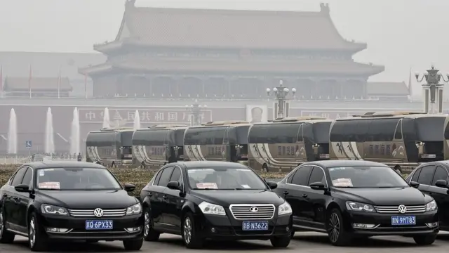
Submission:
<svg viewBox="0 0 449 253">
<path fill-rule="evenodd" d="M 335 188 L 345 200 L 372 205 L 425 205 L 432 198 L 413 187 L 406 188 Z"/>
</svg>

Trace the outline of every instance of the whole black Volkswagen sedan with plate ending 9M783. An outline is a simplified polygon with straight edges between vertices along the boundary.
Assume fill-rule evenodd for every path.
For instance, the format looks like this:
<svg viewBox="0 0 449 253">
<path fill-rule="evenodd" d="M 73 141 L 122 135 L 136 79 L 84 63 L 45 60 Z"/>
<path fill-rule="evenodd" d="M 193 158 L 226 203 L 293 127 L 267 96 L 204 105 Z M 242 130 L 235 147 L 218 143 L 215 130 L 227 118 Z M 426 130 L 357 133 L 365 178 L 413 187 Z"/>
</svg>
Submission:
<svg viewBox="0 0 449 253">
<path fill-rule="evenodd" d="M 293 229 L 328 233 L 333 245 L 373 235 L 410 235 L 430 245 L 438 233 L 435 200 L 384 164 L 307 162 L 274 191 L 293 209 Z"/>
</svg>

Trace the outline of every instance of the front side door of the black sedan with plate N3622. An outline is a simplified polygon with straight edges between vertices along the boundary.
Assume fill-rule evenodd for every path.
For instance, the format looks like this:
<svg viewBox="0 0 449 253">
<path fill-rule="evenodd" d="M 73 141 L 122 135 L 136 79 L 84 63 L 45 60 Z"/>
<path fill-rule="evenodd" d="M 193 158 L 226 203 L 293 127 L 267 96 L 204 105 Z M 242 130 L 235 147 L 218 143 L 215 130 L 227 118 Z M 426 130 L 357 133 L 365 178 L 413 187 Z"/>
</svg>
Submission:
<svg viewBox="0 0 449 253">
<path fill-rule="evenodd" d="M 173 173 L 170 176 L 170 182 L 177 181 L 180 183 L 181 188 L 184 188 L 184 183 L 182 180 L 182 171 L 180 167 L 175 167 Z M 182 192 L 183 193 L 183 192 Z M 163 191 L 163 195 L 166 198 L 166 210 L 167 213 L 164 214 L 163 219 L 169 226 L 173 227 L 175 231 L 181 231 L 181 215 L 182 215 L 182 205 L 184 205 L 185 199 L 182 195 L 181 190 L 173 190 L 166 188 Z"/>
</svg>

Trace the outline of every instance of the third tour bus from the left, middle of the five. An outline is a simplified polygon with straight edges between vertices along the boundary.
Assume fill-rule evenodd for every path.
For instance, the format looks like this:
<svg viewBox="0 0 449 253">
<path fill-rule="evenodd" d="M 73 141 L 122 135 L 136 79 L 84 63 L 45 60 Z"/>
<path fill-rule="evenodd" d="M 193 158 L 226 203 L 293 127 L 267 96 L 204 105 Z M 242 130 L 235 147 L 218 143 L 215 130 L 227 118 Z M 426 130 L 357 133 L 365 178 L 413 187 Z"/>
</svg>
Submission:
<svg viewBox="0 0 449 253">
<path fill-rule="evenodd" d="M 249 122 L 208 122 L 191 126 L 185 131 L 185 161 L 228 161 L 248 160 Z"/>
</svg>

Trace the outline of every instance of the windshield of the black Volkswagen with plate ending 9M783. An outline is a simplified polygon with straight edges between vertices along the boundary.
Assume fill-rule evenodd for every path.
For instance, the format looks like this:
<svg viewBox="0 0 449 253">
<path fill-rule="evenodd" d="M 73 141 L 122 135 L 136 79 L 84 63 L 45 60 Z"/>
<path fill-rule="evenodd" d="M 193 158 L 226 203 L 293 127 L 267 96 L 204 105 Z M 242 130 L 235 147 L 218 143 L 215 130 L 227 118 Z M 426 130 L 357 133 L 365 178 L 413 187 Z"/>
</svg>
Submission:
<svg viewBox="0 0 449 253">
<path fill-rule="evenodd" d="M 396 188 L 409 187 L 408 183 L 389 167 L 333 167 L 330 180 L 335 187 L 344 188 Z"/>
</svg>

